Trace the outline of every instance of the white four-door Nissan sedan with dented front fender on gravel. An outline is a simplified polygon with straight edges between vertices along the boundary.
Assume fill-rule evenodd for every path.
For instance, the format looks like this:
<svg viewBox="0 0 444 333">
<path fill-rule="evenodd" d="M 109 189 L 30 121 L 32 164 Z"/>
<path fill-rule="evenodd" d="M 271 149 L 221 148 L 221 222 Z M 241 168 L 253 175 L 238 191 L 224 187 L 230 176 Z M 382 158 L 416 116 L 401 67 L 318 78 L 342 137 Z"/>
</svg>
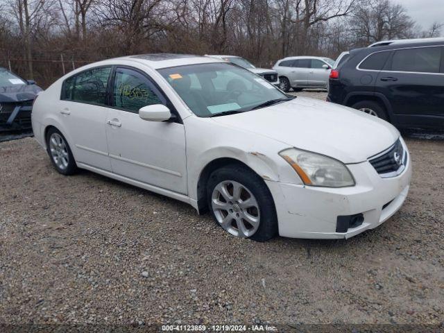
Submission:
<svg viewBox="0 0 444 333">
<path fill-rule="evenodd" d="M 411 179 L 389 123 L 207 57 L 81 67 L 39 94 L 32 123 L 60 173 L 87 169 L 182 200 L 256 241 L 375 228 L 400 209 Z"/>
</svg>

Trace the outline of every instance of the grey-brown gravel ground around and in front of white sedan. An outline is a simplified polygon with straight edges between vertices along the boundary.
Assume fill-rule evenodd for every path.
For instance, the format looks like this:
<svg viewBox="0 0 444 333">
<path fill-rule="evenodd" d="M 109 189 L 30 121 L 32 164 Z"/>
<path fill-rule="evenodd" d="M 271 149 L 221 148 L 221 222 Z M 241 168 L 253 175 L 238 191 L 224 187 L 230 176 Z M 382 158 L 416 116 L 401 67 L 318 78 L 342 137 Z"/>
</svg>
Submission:
<svg viewBox="0 0 444 333">
<path fill-rule="evenodd" d="M 0 323 L 443 323 L 444 145 L 407 145 L 411 192 L 379 228 L 261 244 L 185 203 L 61 176 L 32 138 L 0 143 Z"/>
</svg>

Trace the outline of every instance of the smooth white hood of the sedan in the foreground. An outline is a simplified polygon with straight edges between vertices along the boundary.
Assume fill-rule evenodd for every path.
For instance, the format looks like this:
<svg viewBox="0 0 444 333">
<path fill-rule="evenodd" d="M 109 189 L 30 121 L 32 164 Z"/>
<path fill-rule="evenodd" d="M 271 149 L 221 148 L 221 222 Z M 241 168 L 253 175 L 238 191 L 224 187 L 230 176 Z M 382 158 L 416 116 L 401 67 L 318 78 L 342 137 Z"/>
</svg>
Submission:
<svg viewBox="0 0 444 333">
<path fill-rule="evenodd" d="M 346 164 L 366 161 L 400 136 L 396 128 L 382 119 L 305 97 L 212 119 Z"/>
</svg>

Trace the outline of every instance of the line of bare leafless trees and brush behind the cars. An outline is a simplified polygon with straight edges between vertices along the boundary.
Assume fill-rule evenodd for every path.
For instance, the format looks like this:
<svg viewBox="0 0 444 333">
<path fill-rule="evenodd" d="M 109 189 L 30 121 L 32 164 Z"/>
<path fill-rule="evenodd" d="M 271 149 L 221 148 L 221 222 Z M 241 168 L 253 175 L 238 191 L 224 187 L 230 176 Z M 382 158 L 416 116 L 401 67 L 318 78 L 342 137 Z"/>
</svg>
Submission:
<svg viewBox="0 0 444 333">
<path fill-rule="evenodd" d="M 137 53 L 233 54 L 270 67 L 285 56 L 436 37 L 441 27 L 418 26 L 390 0 L 1 0 L 0 65 L 43 86 Z"/>
</svg>

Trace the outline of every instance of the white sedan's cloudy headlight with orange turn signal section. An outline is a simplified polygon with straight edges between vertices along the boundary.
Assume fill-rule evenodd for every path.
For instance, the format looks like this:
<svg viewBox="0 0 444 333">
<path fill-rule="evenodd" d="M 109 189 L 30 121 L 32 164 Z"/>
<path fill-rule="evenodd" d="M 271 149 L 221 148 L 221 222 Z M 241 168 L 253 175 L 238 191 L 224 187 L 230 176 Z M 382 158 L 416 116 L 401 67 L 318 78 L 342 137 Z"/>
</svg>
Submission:
<svg viewBox="0 0 444 333">
<path fill-rule="evenodd" d="M 305 185 L 322 187 L 354 186 L 355 180 L 345 164 L 331 157 L 290 148 L 279 153 L 289 162 Z"/>
</svg>

